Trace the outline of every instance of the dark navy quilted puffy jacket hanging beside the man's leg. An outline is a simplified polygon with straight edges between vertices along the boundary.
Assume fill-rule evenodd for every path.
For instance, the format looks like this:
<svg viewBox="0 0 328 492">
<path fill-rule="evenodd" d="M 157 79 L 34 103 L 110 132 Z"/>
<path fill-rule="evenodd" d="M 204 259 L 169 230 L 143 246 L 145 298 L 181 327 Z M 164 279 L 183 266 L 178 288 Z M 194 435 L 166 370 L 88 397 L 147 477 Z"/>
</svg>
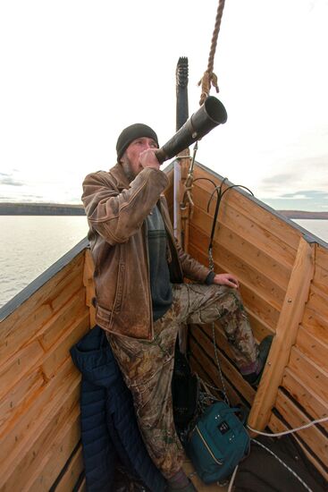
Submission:
<svg viewBox="0 0 328 492">
<path fill-rule="evenodd" d="M 71 348 L 71 358 L 82 374 L 80 422 L 88 492 L 113 490 L 117 461 L 151 491 L 164 491 L 166 482 L 147 454 L 130 391 L 104 330 L 90 330 Z"/>
</svg>

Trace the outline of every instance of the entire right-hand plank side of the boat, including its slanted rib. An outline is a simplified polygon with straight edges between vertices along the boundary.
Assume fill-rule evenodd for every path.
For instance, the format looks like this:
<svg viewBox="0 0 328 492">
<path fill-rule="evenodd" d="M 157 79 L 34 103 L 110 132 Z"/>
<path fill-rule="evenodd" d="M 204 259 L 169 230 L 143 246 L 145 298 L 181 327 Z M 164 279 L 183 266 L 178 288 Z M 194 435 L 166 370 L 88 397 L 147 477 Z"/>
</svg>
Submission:
<svg viewBox="0 0 328 492">
<path fill-rule="evenodd" d="M 204 178 L 210 178 L 216 185 L 221 183 L 213 174 L 196 167 L 189 253 L 208 265 L 214 203 L 209 213 L 207 203 L 214 185 Z M 273 339 L 275 352 L 278 344 L 285 351 L 286 362 L 282 361 L 279 369 L 282 377 L 274 386 L 272 368 L 267 366 L 256 394 L 240 377 L 225 335 L 216 324 L 217 354 L 231 403 L 241 402 L 251 407 L 248 423 L 259 430 L 266 425 L 273 431 L 296 428 L 327 416 L 328 250 L 319 244 L 308 244 L 297 227 L 273 215 L 256 200 L 230 190 L 221 204 L 213 251 L 215 271 L 231 272 L 240 279 L 241 295 L 257 341 L 265 335 L 275 335 L 278 327 L 280 335 L 277 333 Z M 192 367 L 207 382 L 221 387 L 212 327 L 190 327 L 189 334 Z M 290 338 L 287 346 L 284 345 L 286 335 Z M 270 356 L 273 352 L 272 347 Z M 274 375 L 278 370 L 278 355 L 273 362 L 277 364 L 273 367 Z M 264 386 L 262 394 L 261 386 Z M 269 406 L 267 419 L 261 421 L 268 392 L 273 405 Z M 298 433 L 299 443 L 325 478 L 328 478 L 327 430 L 325 423 Z"/>
</svg>

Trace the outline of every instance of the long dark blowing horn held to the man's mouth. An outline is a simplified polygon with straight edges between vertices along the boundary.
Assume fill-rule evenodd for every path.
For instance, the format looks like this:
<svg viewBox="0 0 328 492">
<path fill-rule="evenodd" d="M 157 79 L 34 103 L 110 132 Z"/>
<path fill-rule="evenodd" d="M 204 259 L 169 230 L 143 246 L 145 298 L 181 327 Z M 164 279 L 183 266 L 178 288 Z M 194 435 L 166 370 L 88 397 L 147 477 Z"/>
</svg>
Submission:
<svg viewBox="0 0 328 492">
<path fill-rule="evenodd" d="M 204 137 L 215 126 L 225 123 L 227 117 L 222 102 L 214 96 L 209 96 L 198 111 L 191 115 L 181 129 L 172 136 L 172 139 L 156 150 L 158 162 L 162 164 L 165 160 L 176 156 L 181 150 Z"/>
</svg>

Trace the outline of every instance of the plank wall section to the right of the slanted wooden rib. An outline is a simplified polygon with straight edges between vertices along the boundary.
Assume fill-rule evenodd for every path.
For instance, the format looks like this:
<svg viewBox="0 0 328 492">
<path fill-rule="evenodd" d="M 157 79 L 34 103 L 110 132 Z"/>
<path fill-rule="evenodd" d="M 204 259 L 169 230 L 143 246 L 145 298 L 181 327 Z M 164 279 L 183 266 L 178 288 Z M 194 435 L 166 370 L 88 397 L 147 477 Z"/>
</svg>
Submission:
<svg viewBox="0 0 328 492">
<path fill-rule="evenodd" d="M 315 272 L 291 347 L 269 426 L 279 432 L 328 416 L 328 250 L 315 244 Z M 309 459 L 328 479 L 328 422 L 297 434 Z"/>
</svg>

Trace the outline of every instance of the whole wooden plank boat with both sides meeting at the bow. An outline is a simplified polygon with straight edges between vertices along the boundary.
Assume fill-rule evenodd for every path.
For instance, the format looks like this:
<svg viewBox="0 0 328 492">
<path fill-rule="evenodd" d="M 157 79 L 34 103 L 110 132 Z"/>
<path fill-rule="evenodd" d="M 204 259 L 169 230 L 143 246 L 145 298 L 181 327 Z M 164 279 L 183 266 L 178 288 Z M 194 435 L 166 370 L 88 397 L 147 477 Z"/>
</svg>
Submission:
<svg viewBox="0 0 328 492">
<path fill-rule="evenodd" d="M 182 155 L 183 157 L 183 155 Z M 188 158 L 169 165 L 166 196 L 179 202 Z M 174 191 L 174 173 L 182 189 Z M 204 179 L 209 178 L 212 182 Z M 184 246 L 208 263 L 214 185 L 231 185 L 195 163 L 193 213 L 181 217 Z M 240 278 L 240 290 L 260 341 L 275 335 L 257 392 L 231 362 L 219 326 L 216 344 L 231 403 L 250 408 L 248 425 L 273 432 L 327 416 L 328 244 L 272 208 L 233 188 L 225 193 L 214 234 L 215 271 Z M 0 310 L 2 491 L 83 490 L 80 373 L 70 348 L 95 325 L 93 263 L 87 239 L 69 251 Z M 189 358 L 204 380 L 221 386 L 211 327 L 190 327 Z M 297 440 L 328 478 L 328 422 Z M 207 488 L 204 488 L 206 490 Z M 214 489 L 212 486 L 211 489 Z"/>
</svg>

